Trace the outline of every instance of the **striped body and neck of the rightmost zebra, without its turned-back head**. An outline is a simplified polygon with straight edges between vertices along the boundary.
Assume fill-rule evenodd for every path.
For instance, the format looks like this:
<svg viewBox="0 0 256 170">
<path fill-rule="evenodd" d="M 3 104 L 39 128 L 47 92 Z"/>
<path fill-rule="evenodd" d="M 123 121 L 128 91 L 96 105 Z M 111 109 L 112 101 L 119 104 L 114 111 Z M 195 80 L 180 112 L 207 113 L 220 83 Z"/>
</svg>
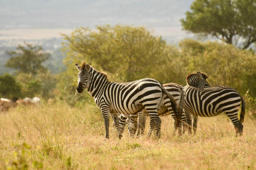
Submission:
<svg viewBox="0 0 256 170">
<path fill-rule="evenodd" d="M 198 73 L 197 73 L 198 74 Z M 183 88 L 185 103 L 184 112 L 189 127 L 191 127 L 191 115 L 194 115 L 193 131 L 196 133 L 198 116 L 212 117 L 224 112 L 234 125 L 236 135 L 243 134 L 243 121 L 245 116 L 245 100 L 234 89 L 228 86 L 195 88 L 195 74 L 189 74 L 187 77 L 187 86 Z M 201 82 L 202 84 L 205 82 Z M 241 107 L 240 120 L 238 119 L 238 110 Z M 191 128 L 189 129 L 191 133 Z"/>
</svg>

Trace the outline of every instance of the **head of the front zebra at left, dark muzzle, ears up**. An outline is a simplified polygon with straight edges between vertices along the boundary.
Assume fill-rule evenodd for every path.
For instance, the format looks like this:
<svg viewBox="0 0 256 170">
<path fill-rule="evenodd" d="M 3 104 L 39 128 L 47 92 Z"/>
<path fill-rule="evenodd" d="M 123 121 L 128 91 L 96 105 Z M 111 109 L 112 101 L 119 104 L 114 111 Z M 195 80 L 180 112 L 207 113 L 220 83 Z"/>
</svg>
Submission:
<svg viewBox="0 0 256 170">
<path fill-rule="evenodd" d="M 75 63 L 76 64 L 76 63 Z M 78 86 L 76 88 L 77 92 L 81 94 L 85 88 L 88 88 L 91 82 L 90 78 L 90 70 L 91 66 L 89 64 L 85 64 L 83 62 L 82 66 L 76 64 L 79 73 L 77 74 L 77 83 Z"/>
</svg>

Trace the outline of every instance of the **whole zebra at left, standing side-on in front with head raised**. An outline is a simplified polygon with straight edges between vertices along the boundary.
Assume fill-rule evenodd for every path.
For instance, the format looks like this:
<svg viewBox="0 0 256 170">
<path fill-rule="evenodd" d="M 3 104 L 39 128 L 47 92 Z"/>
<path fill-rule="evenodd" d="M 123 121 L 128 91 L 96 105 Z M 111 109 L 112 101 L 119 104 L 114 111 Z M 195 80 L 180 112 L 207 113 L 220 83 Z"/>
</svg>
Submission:
<svg viewBox="0 0 256 170">
<path fill-rule="evenodd" d="M 143 108 L 146 109 L 156 124 L 157 137 L 159 138 L 161 119 L 157 115 L 157 109 L 165 96 L 171 100 L 171 107 L 175 116 L 180 119 L 181 113 L 175 99 L 164 89 L 163 84 L 159 81 L 140 79 L 127 83 L 110 82 L 106 73 L 94 69 L 85 62 L 81 66 L 76 63 L 75 65 L 79 70 L 76 90 L 81 94 L 84 89 L 87 89 L 98 108 L 101 109 L 105 123 L 105 139 L 109 139 L 109 114 L 113 118 L 118 137 L 121 139 L 122 134 L 119 131 L 118 113 L 134 114 L 140 112 Z"/>
</svg>

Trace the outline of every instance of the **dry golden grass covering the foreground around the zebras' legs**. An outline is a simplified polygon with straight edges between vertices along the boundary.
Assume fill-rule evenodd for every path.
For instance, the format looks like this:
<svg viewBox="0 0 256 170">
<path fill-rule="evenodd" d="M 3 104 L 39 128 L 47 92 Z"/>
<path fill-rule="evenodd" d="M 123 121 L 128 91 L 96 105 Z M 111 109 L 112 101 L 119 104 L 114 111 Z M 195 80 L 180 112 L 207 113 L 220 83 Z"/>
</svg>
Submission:
<svg viewBox="0 0 256 170">
<path fill-rule="evenodd" d="M 182 137 L 172 136 L 170 116 L 161 118 L 159 140 L 131 139 L 127 129 L 118 140 L 111 125 L 105 140 L 94 105 L 11 108 L 0 115 L 0 169 L 256 169 L 256 120 L 249 112 L 242 137 L 223 114 L 199 117 L 197 134 Z"/>
</svg>

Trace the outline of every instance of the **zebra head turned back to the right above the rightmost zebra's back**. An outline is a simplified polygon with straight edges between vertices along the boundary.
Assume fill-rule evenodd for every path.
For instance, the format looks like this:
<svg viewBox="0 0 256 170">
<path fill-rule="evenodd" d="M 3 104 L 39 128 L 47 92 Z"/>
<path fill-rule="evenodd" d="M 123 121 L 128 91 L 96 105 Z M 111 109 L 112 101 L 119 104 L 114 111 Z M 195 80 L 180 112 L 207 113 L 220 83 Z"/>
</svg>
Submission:
<svg viewBox="0 0 256 170">
<path fill-rule="evenodd" d="M 197 73 L 189 74 L 186 79 L 188 86 L 193 86 L 197 88 L 207 88 L 211 87 L 209 82 L 206 81 L 207 78 L 207 74 L 198 71 Z"/>
</svg>

